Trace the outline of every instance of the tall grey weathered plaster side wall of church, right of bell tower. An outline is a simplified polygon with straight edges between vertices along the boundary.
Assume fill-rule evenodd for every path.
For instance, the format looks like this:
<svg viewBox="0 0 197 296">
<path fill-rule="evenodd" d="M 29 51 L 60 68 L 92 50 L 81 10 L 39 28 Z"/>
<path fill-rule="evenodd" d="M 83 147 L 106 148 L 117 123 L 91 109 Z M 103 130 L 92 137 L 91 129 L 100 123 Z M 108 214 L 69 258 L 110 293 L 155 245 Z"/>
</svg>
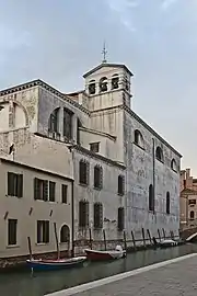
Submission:
<svg viewBox="0 0 197 296">
<path fill-rule="evenodd" d="M 144 139 L 144 150 L 134 144 L 134 132 L 139 129 Z M 173 230 L 178 235 L 179 228 L 179 173 L 171 169 L 174 158 L 179 171 L 179 157 L 155 136 L 125 113 L 125 162 L 127 164 L 127 231 L 131 229 L 141 237 L 141 228 L 150 229 L 152 236 L 158 229 L 166 232 Z M 149 185 L 153 184 L 153 150 L 152 138 L 157 146 L 162 147 L 164 163 L 155 159 L 155 214 L 149 212 Z M 166 192 L 171 195 L 171 214 L 166 215 Z M 167 234 L 169 235 L 169 234 Z"/>
</svg>

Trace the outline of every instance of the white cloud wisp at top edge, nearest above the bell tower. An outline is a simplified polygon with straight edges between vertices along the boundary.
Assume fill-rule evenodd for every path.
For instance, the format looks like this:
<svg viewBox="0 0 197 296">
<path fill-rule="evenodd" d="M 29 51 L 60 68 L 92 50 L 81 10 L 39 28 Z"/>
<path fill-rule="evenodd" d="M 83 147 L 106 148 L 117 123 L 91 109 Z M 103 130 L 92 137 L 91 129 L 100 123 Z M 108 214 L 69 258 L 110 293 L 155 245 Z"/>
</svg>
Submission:
<svg viewBox="0 0 197 296">
<path fill-rule="evenodd" d="M 136 27 L 131 20 L 130 10 L 139 5 L 139 1 L 134 0 L 107 0 L 109 9 L 115 12 L 119 22 L 130 32 L 135 32 Z"/>
</svg>

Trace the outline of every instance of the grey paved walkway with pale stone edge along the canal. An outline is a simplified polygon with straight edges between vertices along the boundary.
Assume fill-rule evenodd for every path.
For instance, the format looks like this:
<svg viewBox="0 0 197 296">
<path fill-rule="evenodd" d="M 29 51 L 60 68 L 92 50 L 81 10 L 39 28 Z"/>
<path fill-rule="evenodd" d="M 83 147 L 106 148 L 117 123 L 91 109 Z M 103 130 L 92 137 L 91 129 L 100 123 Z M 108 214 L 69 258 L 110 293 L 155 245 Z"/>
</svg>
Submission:
<svg viewBox="0 0 197 296">
<path fill-rule="evenodd" d="M 197 254 L 48 294 L 48 296 L 197 296 Z"/>
</svg>

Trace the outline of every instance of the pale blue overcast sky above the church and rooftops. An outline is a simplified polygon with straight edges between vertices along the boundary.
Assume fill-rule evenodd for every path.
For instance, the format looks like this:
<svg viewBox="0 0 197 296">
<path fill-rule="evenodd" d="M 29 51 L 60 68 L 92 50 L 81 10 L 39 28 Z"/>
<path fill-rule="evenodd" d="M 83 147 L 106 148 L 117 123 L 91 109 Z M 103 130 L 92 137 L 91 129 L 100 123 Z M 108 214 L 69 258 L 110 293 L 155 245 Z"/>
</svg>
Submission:
<svg viewBox="0 0 197 296">
<path fill-rule="evenodd" d="M 197 0 L 0 0 L 0 89 L 63 92 L 102 60 L 134 72 L 132 109 L 197 177 Z"/>
</svg>

